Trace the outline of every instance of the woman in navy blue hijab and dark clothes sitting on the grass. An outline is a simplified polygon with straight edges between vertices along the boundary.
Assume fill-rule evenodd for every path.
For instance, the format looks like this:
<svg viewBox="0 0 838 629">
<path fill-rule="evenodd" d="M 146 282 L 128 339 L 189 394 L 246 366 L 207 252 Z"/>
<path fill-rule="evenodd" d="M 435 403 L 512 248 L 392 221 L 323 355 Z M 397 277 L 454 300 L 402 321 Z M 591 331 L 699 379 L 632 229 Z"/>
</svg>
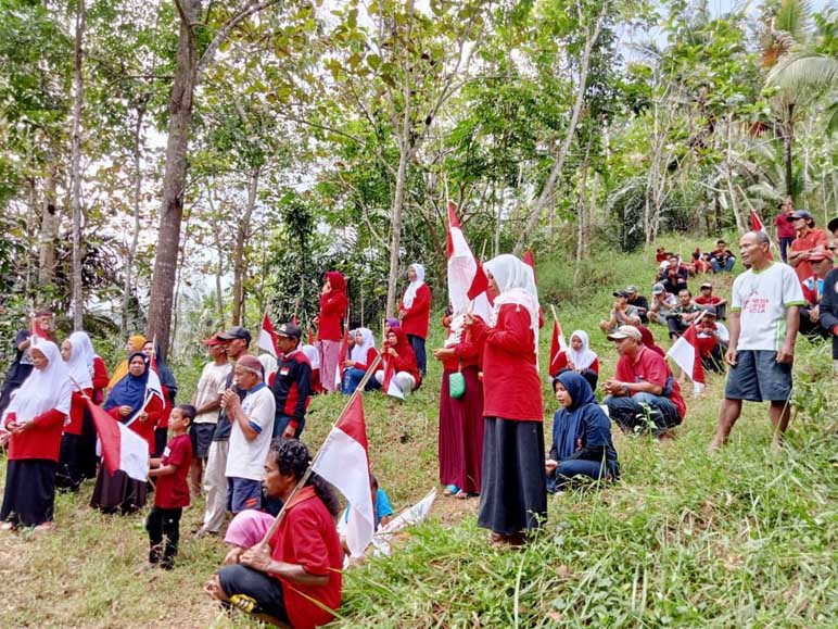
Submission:
<svg viewBox="0 0 838 629">
<path fill-rule="evenodd" d="M 553 419 L 553 448 L 545 462 L 547 490 L 561 491 L 580 476 L 594 480 L 619 477 L 611 420 L 597 405 L 587 380 L 563 372 L 553 380 L 553 390 L 562 407 Z"/>
</svg>

